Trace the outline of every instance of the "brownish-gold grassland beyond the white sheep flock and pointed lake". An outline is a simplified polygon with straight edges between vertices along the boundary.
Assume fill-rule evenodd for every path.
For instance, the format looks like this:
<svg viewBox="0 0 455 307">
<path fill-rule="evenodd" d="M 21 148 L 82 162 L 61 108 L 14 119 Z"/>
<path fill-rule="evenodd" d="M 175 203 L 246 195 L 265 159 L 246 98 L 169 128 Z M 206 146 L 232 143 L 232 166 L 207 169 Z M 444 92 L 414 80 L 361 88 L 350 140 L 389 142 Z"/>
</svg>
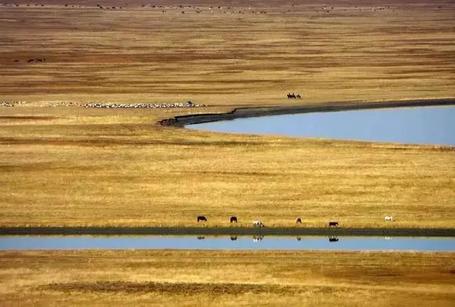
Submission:
<svg viewBox="0 0 455 307">
<path fill-rule="evenodd" d="M 264 105 L 289 103 L 287 92 L 307 102 L 454 96 L 453 1 L 390 1 L 375 11 L 383 1 L 330 1 L 328 13 L 317 1 L 237 1 L 230 10 L 193 1 L 199 9 L 166 13 L 139 1 L 98 9 L 103 2 L 0 6 L 1 99 Z"/>
</svg>

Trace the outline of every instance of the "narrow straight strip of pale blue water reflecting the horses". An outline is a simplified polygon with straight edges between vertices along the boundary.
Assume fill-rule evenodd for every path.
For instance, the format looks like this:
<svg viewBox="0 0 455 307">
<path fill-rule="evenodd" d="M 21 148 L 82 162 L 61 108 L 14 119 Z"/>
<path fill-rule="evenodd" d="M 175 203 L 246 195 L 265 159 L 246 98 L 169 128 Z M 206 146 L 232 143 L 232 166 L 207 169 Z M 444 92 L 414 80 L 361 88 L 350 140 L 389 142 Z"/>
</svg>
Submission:
<svg viewBox="0 0 455 307">
<path fill-rule="evenodd" d="M 4 236 L 0 250 L 314 249 L 454 252 L 455 238 L 255 236 Z"/>
</svg>

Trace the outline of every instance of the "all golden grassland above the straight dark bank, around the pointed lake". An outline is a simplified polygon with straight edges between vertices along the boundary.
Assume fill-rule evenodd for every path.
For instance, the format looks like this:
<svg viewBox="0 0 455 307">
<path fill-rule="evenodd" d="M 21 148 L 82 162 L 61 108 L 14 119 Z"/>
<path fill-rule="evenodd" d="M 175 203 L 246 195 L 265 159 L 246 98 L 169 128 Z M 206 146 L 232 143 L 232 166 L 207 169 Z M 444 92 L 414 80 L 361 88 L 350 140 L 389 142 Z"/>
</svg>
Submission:
<svg viewBox="0 0 455 307">
<path fill-rule="evenodd" d="M 193 226 L 206 215 L 220 226 L 236 215 L 382 227 L 393 215 L 388 227 L 455 227 L 453 149 L 154 124 L 296 103 L 287 92 L 305 104 L 455 96 L 454 4 L 304 4 L 238 15 L 0 6 L 0 100 L 28 102 L 0 108 L 0 225 Z M 210 107 L 40 107 L 188 99 Z"/>
</svg>

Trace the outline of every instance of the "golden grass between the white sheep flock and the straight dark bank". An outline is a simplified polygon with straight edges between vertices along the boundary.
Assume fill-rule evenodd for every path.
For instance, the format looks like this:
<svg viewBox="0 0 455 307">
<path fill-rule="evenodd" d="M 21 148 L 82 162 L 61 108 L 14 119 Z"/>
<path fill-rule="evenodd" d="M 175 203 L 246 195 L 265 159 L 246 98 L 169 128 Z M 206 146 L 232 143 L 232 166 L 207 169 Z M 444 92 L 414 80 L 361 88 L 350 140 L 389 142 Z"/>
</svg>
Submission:
<svg viewBox="0 0 455 307">
<path fill-rule="evenodd" d="M 207 108 L 210 111 L 216 108 Z M 16 225 L 454 227 L 455 155 L 439 146 L 157 126 L 181 110 L 9 108 L 0 221 Z M 190 111 L 191 112 L 191 111 Z M 23 117 L 17 117 L 21 114 Z"/>
</svg>

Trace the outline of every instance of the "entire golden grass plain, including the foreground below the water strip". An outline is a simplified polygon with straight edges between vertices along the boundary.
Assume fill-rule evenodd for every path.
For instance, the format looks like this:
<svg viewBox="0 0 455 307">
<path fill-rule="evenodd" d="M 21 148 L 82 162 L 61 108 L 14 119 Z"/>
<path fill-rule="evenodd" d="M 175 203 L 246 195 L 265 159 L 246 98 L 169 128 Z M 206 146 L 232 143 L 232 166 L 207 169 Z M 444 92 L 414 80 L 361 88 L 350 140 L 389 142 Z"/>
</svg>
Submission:
<svg viewBox="0 0 455 307">
<path fill-rule="evenodd" d="M 188 227 L 197 215 L 220 227 L 236 215 L 238 226 L 455 228 L 453 147 L 156 125 L 235 107 L 455 97 L 453 1 L 15 2 L 0 4 L 0 104 L 16 104 L 0 106 L 1 227 Z M 188 100 L 208 106 L 82 106 Z M 0 305 L 453 306 L 454 259 L 9 251 Z"/>
</svg>

